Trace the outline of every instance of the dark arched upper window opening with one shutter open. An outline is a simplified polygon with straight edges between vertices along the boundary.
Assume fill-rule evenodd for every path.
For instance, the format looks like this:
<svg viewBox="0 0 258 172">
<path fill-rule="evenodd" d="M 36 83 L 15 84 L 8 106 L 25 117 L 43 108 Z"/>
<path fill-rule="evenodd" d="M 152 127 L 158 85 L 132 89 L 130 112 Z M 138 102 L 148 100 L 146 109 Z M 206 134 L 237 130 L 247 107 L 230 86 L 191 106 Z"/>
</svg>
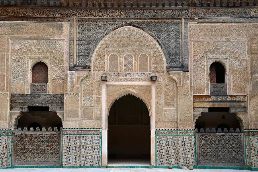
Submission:
<svg viewBox="0 0 258 172">
<path fill-rule="evenodd" d="M 210 84 L 225 83 L 225 68 L 219 62 L 214 62 L 210 66 Z"/>
</svg>

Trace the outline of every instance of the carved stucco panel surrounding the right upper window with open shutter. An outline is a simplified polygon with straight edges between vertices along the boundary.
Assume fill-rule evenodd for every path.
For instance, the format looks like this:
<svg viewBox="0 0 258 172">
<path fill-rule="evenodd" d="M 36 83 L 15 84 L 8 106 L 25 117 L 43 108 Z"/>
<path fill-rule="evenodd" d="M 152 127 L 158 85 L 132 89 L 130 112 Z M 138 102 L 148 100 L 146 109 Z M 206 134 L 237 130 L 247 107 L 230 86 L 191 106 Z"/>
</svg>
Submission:
<svg viewBox="0 0 258 172">
<path fill-rule="evenodd" d="M 235 50 L 240 47 L 241 50 Z M 214 42 L 206 50 L 193 57 L 193 93 L 209 94 L 209 69 L 213 62 L 225 68 L 228 94 L 246 94 L 246 45 L 242 42 Z M 243 49 L 243 50 L 242 50 Z"/>
</svg>

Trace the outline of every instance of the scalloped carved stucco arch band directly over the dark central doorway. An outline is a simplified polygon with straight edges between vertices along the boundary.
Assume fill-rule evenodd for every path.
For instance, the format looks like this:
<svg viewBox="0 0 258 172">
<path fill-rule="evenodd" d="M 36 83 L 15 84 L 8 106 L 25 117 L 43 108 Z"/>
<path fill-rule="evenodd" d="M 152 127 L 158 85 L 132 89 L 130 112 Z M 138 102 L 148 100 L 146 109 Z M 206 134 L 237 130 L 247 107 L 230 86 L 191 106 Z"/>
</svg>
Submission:
<svg viewBox="0 0 258 172">
<path fill-rule="evenodd" d="M 110 108 L 115 103 L 115 101 L 118 100 L 119 98 L 127 95 L 127 94 L 131 94 L 131 95 L 141 99 L 143 101 L 143 103 L 147 106 L 149 116 L 151 117 L 151 102 L 150 102 L 150 100 L 148 100 L 146 95 L 144 95 L 144 93 L 142 93 L 141 91 L 129 87 L 129 88 L 124 88 L 124 89 L 121 89 L 121 90 L 117 91 L 116 93 L 114 93 L 114 95 L 112 95 L 112 97 L 110 97 L 109 100 L 112 100 L 112 101 L 107 101 L 108 109 L 107 109 L 107 112 L 106 112 L 106 118 L 109 116 Z"/>
</svg>

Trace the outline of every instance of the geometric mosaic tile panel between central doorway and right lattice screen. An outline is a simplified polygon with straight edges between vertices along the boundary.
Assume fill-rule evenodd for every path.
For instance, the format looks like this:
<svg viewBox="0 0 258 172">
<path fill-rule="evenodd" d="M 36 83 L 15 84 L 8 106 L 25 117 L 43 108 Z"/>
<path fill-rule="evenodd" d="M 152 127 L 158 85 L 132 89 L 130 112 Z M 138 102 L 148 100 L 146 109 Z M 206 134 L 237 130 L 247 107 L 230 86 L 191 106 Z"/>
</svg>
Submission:
<svg viewBox="0 0 258 172">
<path fill-rule="evenodd" d="M 156 166 L 194 167 L 195 136 L 156 136 Z"/>
</svg>

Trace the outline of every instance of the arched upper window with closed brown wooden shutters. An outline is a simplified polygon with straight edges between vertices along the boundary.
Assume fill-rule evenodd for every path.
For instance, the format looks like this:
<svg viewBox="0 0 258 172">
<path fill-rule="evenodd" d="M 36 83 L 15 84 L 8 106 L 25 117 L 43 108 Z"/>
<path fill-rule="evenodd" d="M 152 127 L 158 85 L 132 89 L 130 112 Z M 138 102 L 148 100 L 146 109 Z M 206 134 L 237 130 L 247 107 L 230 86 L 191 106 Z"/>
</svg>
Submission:
<svg viewBox="0 0 258 172">
<path fill-rule="evenodd" d="M 38 62 L 32 67 L 32 83 L 48 83 L 48 66 Z"/>
</svg>

